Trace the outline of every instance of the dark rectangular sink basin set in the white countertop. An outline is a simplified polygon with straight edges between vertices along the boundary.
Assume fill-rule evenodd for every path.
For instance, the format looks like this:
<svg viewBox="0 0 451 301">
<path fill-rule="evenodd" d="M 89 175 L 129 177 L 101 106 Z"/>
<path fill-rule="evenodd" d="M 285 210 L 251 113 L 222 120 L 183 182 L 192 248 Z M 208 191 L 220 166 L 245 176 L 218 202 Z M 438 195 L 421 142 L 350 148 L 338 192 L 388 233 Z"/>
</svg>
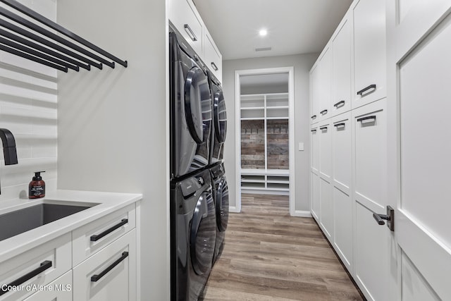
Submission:
<svg viewBox="0 0 451 301">
<path fill-rule="evenodd" d="M 79 204 L 43 203 L 2 214 L 0 215 L 0 241 L 97 205 L 80 206 Z"/>
</svg>

